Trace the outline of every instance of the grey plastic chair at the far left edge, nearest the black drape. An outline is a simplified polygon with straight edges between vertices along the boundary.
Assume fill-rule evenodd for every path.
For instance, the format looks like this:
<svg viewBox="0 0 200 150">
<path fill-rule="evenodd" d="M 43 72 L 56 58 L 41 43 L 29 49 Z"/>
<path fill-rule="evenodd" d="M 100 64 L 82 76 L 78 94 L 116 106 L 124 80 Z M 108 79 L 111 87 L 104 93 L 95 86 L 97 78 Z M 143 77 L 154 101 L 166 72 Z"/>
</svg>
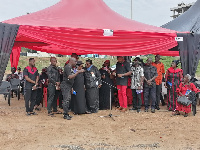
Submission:
<svg viewBox="0 0 200 150">
<path fill-rule="evenodd" d="M 2 81 L 0 86 L 0 94 L 4 94 L 5 100 L 8 96 L 8 105 L 10 106 L 11 84 L 8 81 Z"/>
</svg>

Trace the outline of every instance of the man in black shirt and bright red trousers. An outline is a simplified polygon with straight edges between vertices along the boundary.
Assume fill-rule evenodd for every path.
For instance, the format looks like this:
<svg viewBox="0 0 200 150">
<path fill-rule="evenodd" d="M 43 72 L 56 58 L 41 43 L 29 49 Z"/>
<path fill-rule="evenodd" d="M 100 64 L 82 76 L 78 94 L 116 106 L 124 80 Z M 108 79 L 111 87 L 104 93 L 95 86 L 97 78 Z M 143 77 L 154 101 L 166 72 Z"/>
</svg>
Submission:
<svg viewBox="0 0 200 150">
<path fill-rule="evenodd" d="M 116 64 L 116 81 L 118 88 L 118 98 L 119 98 L 119 110 L 122 112 L 127 111 L 127 95 L 126 89 L 128 85 L 128 76 L 131 75 L 130 63 L 124 60 L 123 56 L 117 56 Z"/>
</svg>

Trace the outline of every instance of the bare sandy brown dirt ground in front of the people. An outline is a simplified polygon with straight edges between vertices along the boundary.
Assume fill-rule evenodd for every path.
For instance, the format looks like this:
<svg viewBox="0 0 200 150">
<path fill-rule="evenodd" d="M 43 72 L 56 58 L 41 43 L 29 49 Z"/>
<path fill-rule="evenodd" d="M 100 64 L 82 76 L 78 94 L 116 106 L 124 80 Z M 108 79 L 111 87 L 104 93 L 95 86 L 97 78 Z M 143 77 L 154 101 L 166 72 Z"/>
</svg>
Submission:
<svg viewBox="0 0 200 150">
<path fill-rule="evenodd" d="M 115 121 L 97 114 L 47 116 L 42 108 L 37 116 L 26 116 L 24 99 L 0 96 L 1 150 L 198 150 L 200 149 L 200 107 L 197 115 L 171 116 L 166 106 L 151 112 L 121 113 L 112 110 Z"/>
</svg>

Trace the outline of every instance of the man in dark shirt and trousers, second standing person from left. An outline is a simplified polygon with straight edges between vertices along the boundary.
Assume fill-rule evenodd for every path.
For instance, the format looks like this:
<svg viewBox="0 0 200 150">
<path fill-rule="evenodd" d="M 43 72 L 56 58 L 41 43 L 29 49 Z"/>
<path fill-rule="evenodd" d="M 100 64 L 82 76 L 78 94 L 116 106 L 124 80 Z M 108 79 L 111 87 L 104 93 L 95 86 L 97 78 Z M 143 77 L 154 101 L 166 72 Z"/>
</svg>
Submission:
<svg viewBox="0 0 200 150">
<path fill-rule="evenodd" d="M 47 103 L 47 111 L 48 115 L 52 116 L 54 113 L 60 113 L 57 110 L 57 99 L 60 93 L 60 73 L 56 66 L 57 59 L 55 57 L 50 58 L 51 65 L 47 68 L 48 75 L 48 103 Z M 53 113 L 51 109 L 53 108 Z"/>
</svg>

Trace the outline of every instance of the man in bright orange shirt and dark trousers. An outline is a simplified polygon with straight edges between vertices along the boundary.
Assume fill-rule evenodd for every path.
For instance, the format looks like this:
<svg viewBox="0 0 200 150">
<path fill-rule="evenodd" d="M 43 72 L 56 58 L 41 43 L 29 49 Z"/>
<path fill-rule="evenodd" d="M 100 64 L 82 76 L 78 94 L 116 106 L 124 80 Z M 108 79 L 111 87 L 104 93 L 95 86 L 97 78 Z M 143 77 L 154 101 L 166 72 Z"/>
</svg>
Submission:
<svg viewBox="0 0 200 150">
<path fill-rule="evenodd" d="M 157 73 L 158 73 L 158 77 L 155 79 L 156 81 L 156 104 L 155 104 L 155 108 L 157 110 L 160 109 L 159 104 L 160 104 L 160 93 L 162 90 L 162 79 L 164 77 L 165 74 L 165 67 L 164 64 L 162 62 L 160 62 L 160 55 L 156 55 L 155 56 L 155 62 L 152 63 L 153 66 L 155 66 L 157 68 Z M 162 101 L 162 104 L 164 105 L 164 100 Z"/>
</svg>

